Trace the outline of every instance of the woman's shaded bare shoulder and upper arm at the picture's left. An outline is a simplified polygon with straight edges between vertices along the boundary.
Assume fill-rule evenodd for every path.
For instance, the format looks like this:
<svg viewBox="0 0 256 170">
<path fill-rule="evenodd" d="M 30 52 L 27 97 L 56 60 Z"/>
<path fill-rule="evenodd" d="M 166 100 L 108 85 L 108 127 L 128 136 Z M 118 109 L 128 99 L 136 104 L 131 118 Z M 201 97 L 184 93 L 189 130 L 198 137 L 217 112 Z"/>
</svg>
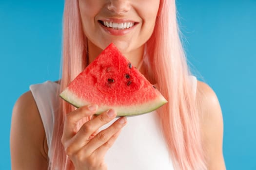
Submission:
<svg viewBox="0 0 256 170">
<path fill-rule="evenodd" d="M 47 169 L 47 144 L 43 124 L 31 91 L 14 105 L 10 133 L 12 170 Z"/>
</svg>

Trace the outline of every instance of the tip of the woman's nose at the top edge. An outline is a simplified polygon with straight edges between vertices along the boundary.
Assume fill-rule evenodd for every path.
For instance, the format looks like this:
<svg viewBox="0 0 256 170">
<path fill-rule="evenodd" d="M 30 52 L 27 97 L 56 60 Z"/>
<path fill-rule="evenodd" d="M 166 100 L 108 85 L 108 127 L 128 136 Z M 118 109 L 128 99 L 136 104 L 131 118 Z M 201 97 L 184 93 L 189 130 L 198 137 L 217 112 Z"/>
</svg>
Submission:
<svg viewBox="0 0 256 170">
<path fill-rule="evenodd" d="M 128 0 L 110 0 L 108 10 L 116 14 L 122 14 L 130 10 L 130 4 Z"/>
</svg>

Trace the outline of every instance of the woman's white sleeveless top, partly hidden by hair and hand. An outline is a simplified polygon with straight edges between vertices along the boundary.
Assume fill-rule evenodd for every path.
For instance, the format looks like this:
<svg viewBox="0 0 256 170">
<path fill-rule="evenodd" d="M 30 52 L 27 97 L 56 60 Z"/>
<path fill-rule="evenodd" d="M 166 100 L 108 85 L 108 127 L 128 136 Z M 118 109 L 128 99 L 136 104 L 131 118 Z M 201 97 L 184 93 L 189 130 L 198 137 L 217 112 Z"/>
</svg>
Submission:
<svg viewBox="0 0 256 170">
<path fill-rule="evenodd" d="M 190 79 L 192 90 L 196 94 L 197 78 L 190 76 Z M 58 87 L 57 83 L 51 81 L 30 85 L 43 122 L 48 146 L 51 145 L 54 114 L 58 108 Z M 107 128 L 116 119 L 99 130 Z M 48 148 L 50 159 L 49 153 L 51 152 L 50 147 Z M 114 145 L 105 155 L 105 163 L 108 170 L 174 170 L 156 111 L 127 117 L 127 124 L 122 128 Z"/>
</svg>

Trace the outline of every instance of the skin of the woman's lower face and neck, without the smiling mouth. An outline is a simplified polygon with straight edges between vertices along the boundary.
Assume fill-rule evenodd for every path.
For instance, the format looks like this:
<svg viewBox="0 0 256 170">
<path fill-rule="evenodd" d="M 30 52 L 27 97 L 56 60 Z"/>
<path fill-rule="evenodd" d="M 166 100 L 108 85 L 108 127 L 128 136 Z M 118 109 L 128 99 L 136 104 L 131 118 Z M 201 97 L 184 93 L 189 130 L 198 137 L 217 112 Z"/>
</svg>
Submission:
<svg viewBox="0 0 256 170">
<path fill-rule="evenodd" d="M 137 67 L 143 55 L 143 44 L 154 30 L 158 7 L 159 0 L 79 0 L 83 31 L 88 37 L 89 62 L 113 42 Z M 128 19 L 137 24 L 129 34 L 116 36 L 104 31 L 98 22 L 108 19 Z"/>
</svg>

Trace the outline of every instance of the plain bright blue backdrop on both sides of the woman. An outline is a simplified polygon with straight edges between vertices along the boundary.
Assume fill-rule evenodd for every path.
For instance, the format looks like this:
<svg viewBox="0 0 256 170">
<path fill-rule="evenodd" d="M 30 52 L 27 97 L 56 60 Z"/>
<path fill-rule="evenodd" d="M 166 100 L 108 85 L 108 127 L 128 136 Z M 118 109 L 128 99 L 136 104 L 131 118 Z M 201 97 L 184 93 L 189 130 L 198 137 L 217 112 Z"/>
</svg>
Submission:
<svg viewBox="0 0 256 170">
<path fill-rule="evenodd" d="M 228 170 L 256 170 L 256 0 L 178 0 L 185 50 L 217 93 Z M 0 0 L 0 170 L 10 169 L 12 107 L 59 79 L 63 0 Z"/>
</svg>

